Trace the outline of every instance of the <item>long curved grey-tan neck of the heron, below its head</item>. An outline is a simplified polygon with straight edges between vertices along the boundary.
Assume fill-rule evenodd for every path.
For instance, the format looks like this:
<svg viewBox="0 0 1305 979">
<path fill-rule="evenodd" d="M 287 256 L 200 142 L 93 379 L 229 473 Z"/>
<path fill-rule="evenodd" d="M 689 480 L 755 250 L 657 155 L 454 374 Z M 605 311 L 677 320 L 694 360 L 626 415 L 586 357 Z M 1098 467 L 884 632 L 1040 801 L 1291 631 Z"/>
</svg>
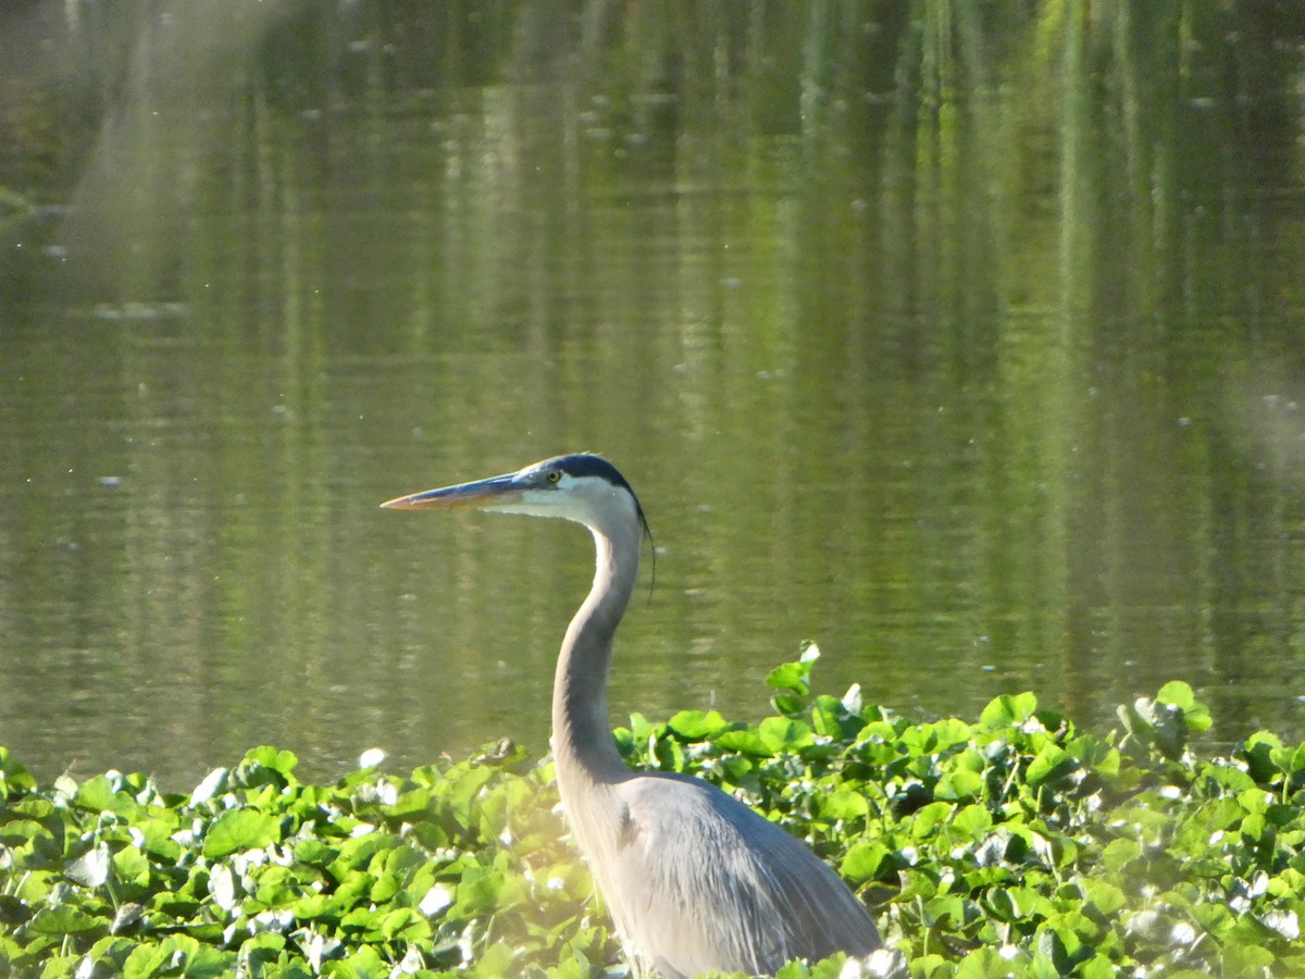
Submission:
<svg viewBox="0 0 1305 979">
<path fill-rule="evenodd" d="M 594 586 L 566 629 L 553 680 L 553 760 L 564 803 L 581 781 L 613 782 L 630 773 L 612 741 L 607 676 L 612 637 L 638 576 L 639 538 L 637 529 L 591 530 Z"/>
</svg>

